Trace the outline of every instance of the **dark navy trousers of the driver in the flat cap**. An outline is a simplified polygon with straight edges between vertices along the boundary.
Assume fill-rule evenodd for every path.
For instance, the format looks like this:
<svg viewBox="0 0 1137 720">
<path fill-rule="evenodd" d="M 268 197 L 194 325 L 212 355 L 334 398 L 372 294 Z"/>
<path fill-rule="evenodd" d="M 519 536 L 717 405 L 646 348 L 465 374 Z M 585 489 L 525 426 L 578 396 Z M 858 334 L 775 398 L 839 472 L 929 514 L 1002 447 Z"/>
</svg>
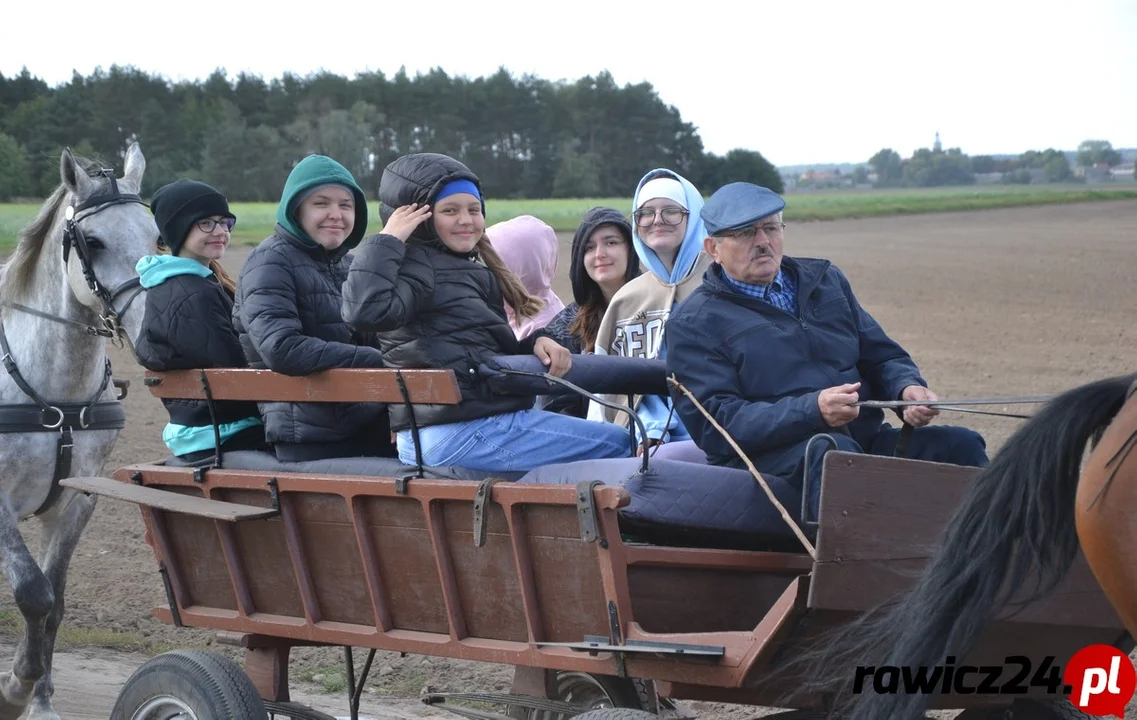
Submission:
<svg viewBox="0 0 1137 720">
<path fill-rule="evenodd" d="M 818 440 L 810 453 L 810 520 L 818 519 L 818 506 L 821 500 L 821 466 L 825 453 L 837 449 L 844 453 L 864 453 L 868 455 L 893 455 L 896 441 L 901 437 L 899 428 L 885 424 L 880 432 L 871 438 L 869 447 L 862 447 L 850 436 L 833 430 L 824 433 L 831 437 L 837 447 L 827 440 Z M 750 462 L 760 473 L 769 473 L 786 479 L 796 488 L 802 487 L 805 478 L 805 447 L 808 440 L 771 450 Z M 968 428 L 955 425 L 924 425 L 915 428 L 908 440 L 904 457 L 923 460 L 933 463 L 949 463 L 969 467 L 986 467 L 987 442 L 984 437 Z"/>
</svg>

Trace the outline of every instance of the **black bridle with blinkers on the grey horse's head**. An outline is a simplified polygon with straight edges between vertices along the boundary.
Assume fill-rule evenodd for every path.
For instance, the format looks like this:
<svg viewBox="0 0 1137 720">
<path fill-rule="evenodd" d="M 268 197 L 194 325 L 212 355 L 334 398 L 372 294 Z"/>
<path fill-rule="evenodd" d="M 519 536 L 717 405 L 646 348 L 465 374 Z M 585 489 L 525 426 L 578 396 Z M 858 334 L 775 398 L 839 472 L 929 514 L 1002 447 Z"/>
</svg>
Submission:
<svg viewBox="0 0 1137 720">
<path fill-rule="evenodd" d="M 103 287 L 99 282 L 99 279 L 94 276 L 94 267 L 91 264 L 91 247 L 88 245 L 86 237 L 83 234 L 83 229 L 80 227 L 80 222 L 116 205 L 138 202 L 143 207 L 149 206 L 142 201 L 140 196 L 121 192 L 118 190 L 118 181 L 115 180 L 115 171 L 113 168 L 103 168 L 99 171 L 99 174 L 107 179 L 107 188 L 93 193 L 91 197 L 80 202 L 77 207 L 67 207 L 65 215 L 67 224 L 64 227 L 64 265 L 67 265 L 70 250 L 74 248 L 75 254 L 78 256 L 80 265 L 83 268 L 83 278 L 86 279 L 86 285 L 91 289 L 91 292 L 94 293 L 94 297 L 99 298 L 99 305 L 102 307 L 102 311 L 99 313 L 99 320 L 102 321 L 102 326 L 96 328 L 92 325 L 83 325 L 83 328 L 85 328 L 91 334 L 108 338 L 115 347 L 122 349 L 125 344 L 123 340 L 124 329 L 121 321 L 122 317 L 126 315 L 126 311 L 130 309 L 134 298 L 142 292 L 142 283 L 139 278 L 131 278 L 114 290 L 108 290 Z M 133 290 L 133 295 L 131 295 L 126 300 L 122 312 L 116 311 L 115 300 L 131 290 Z M 22 309 L 25 309 L 26 312 L 28 308 Z M 33 312 L 33 314 L 47 317 L 43 313 Z M 56 321 L 61 320 L 58 317 L 49 318 Z M 72 323 L 72 321 L 66 322 L 75 324 Z"/>
</svg>

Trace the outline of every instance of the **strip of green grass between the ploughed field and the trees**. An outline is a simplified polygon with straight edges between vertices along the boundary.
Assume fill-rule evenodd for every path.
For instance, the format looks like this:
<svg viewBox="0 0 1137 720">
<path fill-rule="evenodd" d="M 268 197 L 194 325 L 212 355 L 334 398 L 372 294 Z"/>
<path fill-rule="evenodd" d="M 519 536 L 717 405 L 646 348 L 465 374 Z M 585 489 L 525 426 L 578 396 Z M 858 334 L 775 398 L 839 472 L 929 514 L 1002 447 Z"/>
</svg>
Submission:
<svg viewBox="0 0 1137 720">
<path fill-rule="evenodd" d="M 905 190 L 825 190 L 786 195 L 787 222 L 844 220 L 885 215 L 980 210 L 1029 205 L 1084 202 L 1090 200 L 1137 199 L 1137 184 L 1111 185 L 970 185 Z M 493 200 L 488 204 L 488 224 L 518 215 L 533 215 L 561 232 L 573 232 L 589 208 L 606 205 L 631 214 L 631 198 L 581 198 L 543 200 Z M 19 230 L 30 223 L 40 206 L 0 204 L 0 251 L 16 245 Z M 233 242 L 256 245 L 273 232 L 276 205 L 273 202 L 234 202 L 236 227 Z M 382 227 L 379 205 L 367 206 L 367 232 Z"/>
</svg>

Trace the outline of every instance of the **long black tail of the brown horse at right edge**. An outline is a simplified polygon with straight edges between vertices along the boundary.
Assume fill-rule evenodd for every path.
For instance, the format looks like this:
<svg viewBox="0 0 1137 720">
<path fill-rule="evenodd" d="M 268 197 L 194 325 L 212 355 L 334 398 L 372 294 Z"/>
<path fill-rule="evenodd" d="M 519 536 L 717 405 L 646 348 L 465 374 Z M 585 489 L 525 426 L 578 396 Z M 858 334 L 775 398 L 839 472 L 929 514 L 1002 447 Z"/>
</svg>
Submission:
<svg viewBox="0 0 1137 720">
<path fill-rule="evenodd" d="M 1012 598 L 1024 606 L 1062 580 L 1078 553 L 1074 496 L 1086 446 L 1121 411 L 1135 379 L 1068 390 L 1020 427 L 969 486 L 912 591 L 795 661 L 815 663 L 798 689 L 831 694 L 843 720 L 923 718 L 931 694 L 849 695 L 854 668 L 962 662 Z M 1023 594 L 1030 576 L 1037 585 Z"/>
</svg>

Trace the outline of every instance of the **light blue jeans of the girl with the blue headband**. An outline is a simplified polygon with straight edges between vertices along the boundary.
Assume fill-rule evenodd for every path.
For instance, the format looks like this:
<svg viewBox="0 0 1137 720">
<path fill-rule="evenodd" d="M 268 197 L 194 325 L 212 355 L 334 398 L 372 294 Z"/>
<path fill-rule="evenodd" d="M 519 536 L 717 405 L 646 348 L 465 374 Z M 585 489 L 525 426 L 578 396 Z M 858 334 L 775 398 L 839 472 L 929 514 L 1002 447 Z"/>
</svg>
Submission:
<svg viewBox="0 0 1137 720">
<path fill-rule="evenodd" d="M 631 433 L 620 425 L 540 409 L 490 415 L 418 429 L 423 465 L 485 472 L 528 472 L 579 460 L 631 457 Z M 414 437 L 398 433 L 399 461 L 415 464 Z"/>
</svg>

